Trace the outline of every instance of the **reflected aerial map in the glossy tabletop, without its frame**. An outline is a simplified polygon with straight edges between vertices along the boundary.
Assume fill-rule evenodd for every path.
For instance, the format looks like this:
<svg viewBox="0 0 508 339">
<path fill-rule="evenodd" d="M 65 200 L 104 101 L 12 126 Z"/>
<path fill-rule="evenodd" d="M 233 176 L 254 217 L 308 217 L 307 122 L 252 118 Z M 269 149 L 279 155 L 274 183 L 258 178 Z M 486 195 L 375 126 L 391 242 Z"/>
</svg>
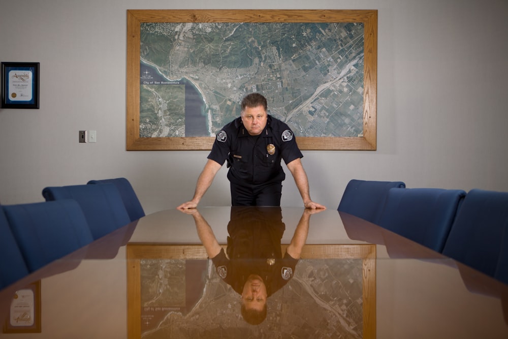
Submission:
<svg viewBox="0 0 508 339">
<path fill-rule="evenodd" d="M 242 319 L 239 295 L 219 278 L 211 261 L 199 266 L 195 262 L 142 260 L 143 338 L 363 337 L 361 259 L 300 260 L 293 279 L 268 299 L 267 318 L 258 326 L 248 325 Z M 189 265 L 195 266 L 194 273 L 189 273 Z M 198 274 L 198 270 L 203 274 Z M 177 279 L 181 274 L 187 276 L 183 285 Z M 200 276 L 204 285 L 200 291 L 195 289 L 197 299 L 187 302 L 187 307 L 176 306 L 181 304 L 174 300 L 158 303 L 158 312 L 148 310 L 153 306 L 146 306 L 147 299 L 152 299 L 147 296 L 158 292 L 143 291 L 160 287 L 161 277 L 168 282 L 163 284 L 166 294 L 183 294 L 184 286 L 199 281 Z"/>
</svg>

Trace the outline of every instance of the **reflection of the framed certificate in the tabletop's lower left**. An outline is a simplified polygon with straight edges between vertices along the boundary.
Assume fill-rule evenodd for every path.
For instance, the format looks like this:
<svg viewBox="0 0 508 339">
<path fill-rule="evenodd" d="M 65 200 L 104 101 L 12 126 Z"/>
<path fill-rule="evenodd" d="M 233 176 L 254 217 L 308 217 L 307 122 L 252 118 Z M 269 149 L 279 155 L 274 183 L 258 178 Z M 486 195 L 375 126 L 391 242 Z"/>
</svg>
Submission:
<svg viewBox="0 0 508 339">
<path fill-rule="evenodd" d="M 18 299 L 19 302 L 15 304 Z M 4 324 L 4 333 L 41 333 L 41 281 L 16 291 L 12 301 L 9 317 Z M 18 321 L 21 324 L 18 324 Z M 23 322 L 25 324 L 22 324 Z"/>
</svg>

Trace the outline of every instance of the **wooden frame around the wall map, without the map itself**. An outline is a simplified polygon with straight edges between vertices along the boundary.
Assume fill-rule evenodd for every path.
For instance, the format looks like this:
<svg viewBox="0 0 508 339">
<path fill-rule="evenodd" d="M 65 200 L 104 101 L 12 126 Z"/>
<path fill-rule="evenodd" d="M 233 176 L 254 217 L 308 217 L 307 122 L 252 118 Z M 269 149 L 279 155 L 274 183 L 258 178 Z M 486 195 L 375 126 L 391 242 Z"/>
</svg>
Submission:
<svg viewBox="0 0 508 339">
<path fill-rule="evenodd" d="M 166 22 L 354 22 L 364 24 L 363 134 L 298 137 L 302 150 L 375 150 L 377 10 L 128 10 L 126 78 L 127 150 L 205 150 L 213 137 L 140 137 L 140 26 Z M 270 108 L 270 107 L 269 107 Z"/>
</svg>

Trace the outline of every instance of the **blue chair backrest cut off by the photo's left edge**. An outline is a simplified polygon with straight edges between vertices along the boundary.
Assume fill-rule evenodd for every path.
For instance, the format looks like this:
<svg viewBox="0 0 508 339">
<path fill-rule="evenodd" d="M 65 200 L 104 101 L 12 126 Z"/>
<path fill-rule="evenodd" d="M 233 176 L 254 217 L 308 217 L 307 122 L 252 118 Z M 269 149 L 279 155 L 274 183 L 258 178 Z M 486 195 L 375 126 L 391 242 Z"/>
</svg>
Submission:
<svg viewBox="0 0 508 339">
<path fill-rule="evenodd" d="M 0 205 L 0 289 L 28 274 L 25 260 Z"/>
</svg>

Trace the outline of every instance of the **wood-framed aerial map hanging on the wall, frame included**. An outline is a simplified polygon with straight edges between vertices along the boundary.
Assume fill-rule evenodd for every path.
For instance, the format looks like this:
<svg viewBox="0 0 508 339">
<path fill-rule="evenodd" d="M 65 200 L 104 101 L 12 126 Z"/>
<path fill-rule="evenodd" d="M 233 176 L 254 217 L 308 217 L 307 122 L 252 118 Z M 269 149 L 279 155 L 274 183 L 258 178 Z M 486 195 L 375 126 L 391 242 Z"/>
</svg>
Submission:
<svg viewBox="0 0 508 339">
<path fill-rule="evenodd" d="M 300 149 L 375 150 L 376 10 L 128 10 L 126 149 L 211 149 L 253 92 Z"/>
</svg>

